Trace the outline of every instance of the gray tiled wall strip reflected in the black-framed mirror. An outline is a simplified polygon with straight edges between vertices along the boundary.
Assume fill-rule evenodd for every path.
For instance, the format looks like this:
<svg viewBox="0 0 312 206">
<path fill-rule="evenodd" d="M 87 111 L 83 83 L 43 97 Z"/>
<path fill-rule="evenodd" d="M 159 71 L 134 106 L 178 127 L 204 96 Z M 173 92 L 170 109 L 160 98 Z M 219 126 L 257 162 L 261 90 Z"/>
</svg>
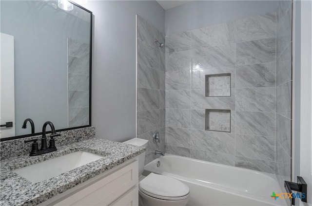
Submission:
<svg viewBox="0 0 312 206">
<path fill-rule="evenodd" d="M 68 127 L 89 125 L 90 46 L 68 38 Z"/>
</svg>

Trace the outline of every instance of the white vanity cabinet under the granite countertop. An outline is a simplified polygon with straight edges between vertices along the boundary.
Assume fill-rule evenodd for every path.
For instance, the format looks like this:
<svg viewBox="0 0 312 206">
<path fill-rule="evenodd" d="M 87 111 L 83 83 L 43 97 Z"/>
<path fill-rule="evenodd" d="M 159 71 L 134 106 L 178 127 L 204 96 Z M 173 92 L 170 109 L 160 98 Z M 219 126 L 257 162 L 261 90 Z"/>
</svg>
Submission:
<svg viewBox="0 0 312 206">
<path fill-rule="evenodd" d="M 99 174 L 39 206 L 137 206 L 137 158 Z"/>
</svg>

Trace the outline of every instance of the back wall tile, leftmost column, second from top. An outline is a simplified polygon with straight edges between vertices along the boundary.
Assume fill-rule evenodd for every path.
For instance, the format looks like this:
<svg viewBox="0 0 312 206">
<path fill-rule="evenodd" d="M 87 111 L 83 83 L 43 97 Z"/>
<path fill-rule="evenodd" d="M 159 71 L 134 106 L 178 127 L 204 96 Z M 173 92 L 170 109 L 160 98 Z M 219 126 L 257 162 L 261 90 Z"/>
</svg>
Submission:
<svg viewBox="0 0 312 206">
<path fill-rule="evenodd" d="M 190 70 L 191 50 L 166 54 L 166 72 Z"/>
</svg>

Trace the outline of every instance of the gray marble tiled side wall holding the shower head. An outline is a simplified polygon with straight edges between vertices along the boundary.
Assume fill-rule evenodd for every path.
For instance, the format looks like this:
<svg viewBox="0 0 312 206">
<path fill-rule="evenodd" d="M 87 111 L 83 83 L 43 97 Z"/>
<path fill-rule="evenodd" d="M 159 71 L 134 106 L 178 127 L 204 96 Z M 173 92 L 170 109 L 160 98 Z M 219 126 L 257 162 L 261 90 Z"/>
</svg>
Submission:
<svg viewBox="0 0 312 206">
<path fill-rule="evenodd" d="M 165 36 L 137 15 L 137 137 L 149 140 L 145 164 L 159 156 L 155 150 L 165 151 L 166 141 L 165 48 L 159 49 L 155 39 L 164 43 Z M 160 143 L 154 144 L 156 131 Z"/>
</svg>

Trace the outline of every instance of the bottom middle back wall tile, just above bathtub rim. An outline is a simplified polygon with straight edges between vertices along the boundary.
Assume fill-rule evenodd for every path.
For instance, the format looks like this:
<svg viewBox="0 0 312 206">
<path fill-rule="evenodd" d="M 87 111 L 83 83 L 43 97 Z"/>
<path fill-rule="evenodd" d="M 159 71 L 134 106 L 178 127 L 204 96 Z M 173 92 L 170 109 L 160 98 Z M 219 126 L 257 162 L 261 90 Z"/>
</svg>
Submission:
<svg viewBox="0 0 312 206">
<path fill-rule="evenodd" d="M 214 162 L 219 163 L 222 165 L 230 165 L 234 166 L 234 155 L 230 154 L 222 154 L 222 153 L 216 153 L 212 151 L 203 151 L 203 150 L 191 150 L 191 158 L 208 161 L 208 162 Z"/>
</svg>

